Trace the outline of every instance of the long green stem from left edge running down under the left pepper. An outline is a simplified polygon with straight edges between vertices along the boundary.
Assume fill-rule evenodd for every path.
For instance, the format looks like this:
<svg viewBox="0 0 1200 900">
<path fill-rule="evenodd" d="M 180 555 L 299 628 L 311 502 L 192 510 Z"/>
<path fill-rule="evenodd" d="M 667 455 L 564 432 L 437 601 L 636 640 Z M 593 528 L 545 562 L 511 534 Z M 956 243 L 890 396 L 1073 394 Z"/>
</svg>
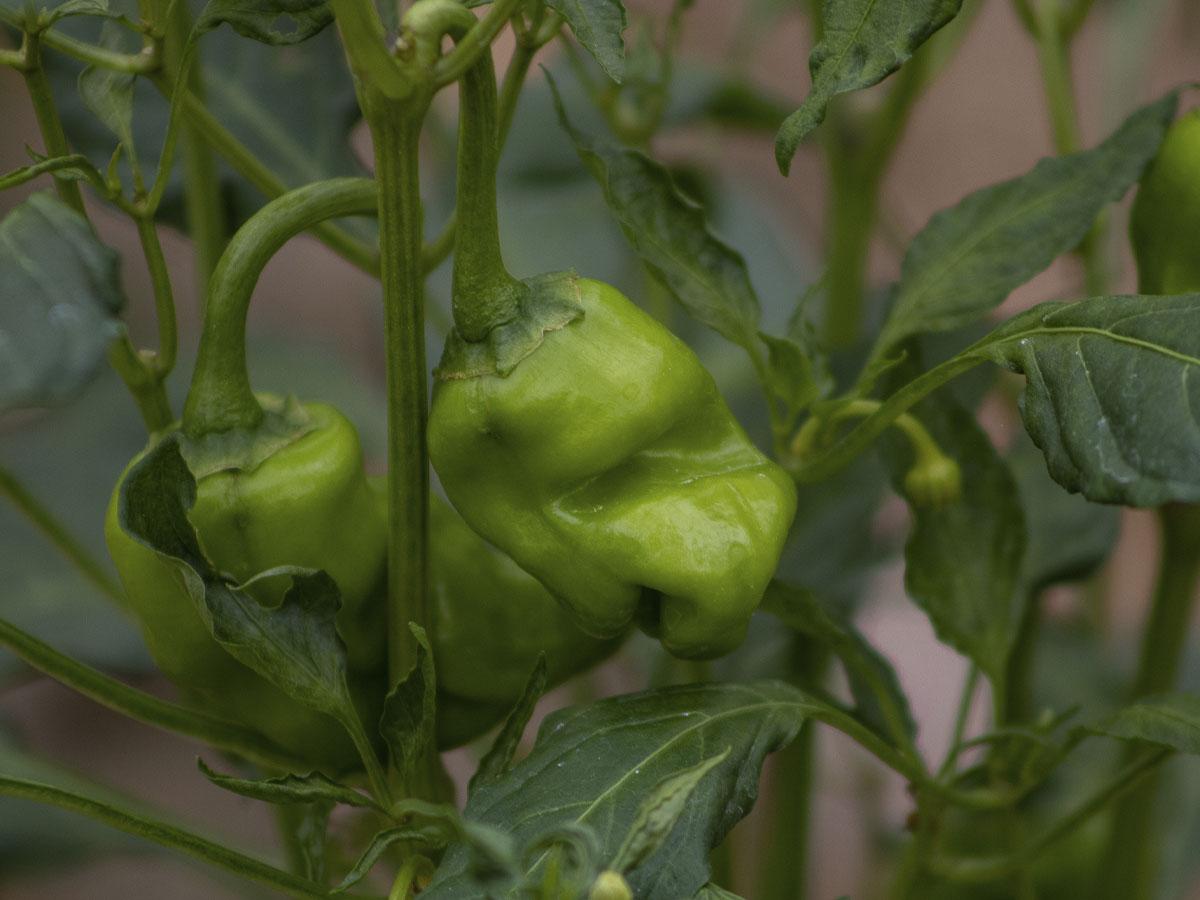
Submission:
<svg viewBox="0 0 1200 900">
<path fill-rule="evenodd" d="M 143 725 L 175 734 L 186 734 L 217 750 L 235 754 L 269 768 L 284 772 L 307 770 L 302 760 L 295 760 L 287 750 L 275 746 L 256 731 L 204 710 L 170 703 L 152 694 L 131 688 L 124 682 L 110 678 L 91 666 L 59 653 L 49 644 L 38 641 L 4 619 L 0 619 L 0 646 L 7 647 L 30 666 L 59 684 Z"/>
</svg>

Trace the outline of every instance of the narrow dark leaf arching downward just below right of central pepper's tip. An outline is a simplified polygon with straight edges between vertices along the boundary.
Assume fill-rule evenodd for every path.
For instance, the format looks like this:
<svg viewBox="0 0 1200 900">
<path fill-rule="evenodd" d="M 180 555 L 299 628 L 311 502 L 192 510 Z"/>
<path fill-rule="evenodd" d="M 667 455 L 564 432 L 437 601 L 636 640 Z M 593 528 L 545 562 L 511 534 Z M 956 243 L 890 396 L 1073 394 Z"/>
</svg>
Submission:
<svg viewBox="0 0 1200 900">
<path fill-rule="evenodd" d="M 842 622 L 810 592 L 778 578 L 767 587 L 762 610 L 794 631 L 820 641 L 841 660 L 858 704 L 856 715 L 868 727 L 893 742 L 917 734 L 917 724 L 895 670 L 851 623 Z M 895 733 L 896 728 L 902 733 Z"/>
</svg>

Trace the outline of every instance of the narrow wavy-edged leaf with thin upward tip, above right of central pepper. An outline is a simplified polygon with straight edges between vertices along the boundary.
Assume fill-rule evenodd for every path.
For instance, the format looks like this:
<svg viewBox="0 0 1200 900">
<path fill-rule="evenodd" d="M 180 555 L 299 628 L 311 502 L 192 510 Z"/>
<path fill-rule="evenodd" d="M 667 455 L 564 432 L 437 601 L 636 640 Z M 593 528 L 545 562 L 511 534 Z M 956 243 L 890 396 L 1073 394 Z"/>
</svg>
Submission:
<svg viewBox="0 0 1200 900">
<path fill-rule="evenodd" d="M 646 266 L 690 316 L 760 354 L 761 310 L 742 256 L 713 235 L 703 210 L 679 192 L 661 164 L 576 130 L 553 80 L 551 86 L 563 128 Z"/>
</svg>

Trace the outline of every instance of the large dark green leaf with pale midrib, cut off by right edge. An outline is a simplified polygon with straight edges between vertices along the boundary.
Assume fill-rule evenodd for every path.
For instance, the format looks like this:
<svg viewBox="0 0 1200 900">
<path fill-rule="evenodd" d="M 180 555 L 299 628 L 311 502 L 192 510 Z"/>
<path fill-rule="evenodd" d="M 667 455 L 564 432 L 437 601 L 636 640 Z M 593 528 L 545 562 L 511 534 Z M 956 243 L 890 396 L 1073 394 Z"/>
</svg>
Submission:
<svg viewBox="0 0 1200 900">
<path fill-rule="evenodd" d="M 1200 500 L 1200 294 L 1043 304 L 965 355 L 1025 374 L 1025 426 L 1067 490 Z"/>
</svg>

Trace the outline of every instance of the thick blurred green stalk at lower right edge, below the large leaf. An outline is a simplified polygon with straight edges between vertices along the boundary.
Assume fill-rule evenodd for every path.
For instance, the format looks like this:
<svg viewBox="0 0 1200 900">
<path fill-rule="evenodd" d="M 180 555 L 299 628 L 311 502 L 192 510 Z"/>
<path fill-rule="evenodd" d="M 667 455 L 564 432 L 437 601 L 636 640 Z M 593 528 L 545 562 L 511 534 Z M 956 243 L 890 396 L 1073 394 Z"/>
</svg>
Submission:
<svg viewBox="0 0 1200 900">
<path fill-rule="evenodd" d="M 1158 584 L 1142 632 L 1132 689 L 1134 700 L 1175 688 L 1200 578 L 1200 506 L 1172 504 L 1160 509 L 1158 517 L 1163 535 Z M 1126 762 L 1141 752 L 1145 752 L 1141 746 L 1129 748 Z M 1148 778 L 1116 806 L 1097 896 L 1111 900 L 1154 896 L 1159 834 L 1154 802 L 1159 786 L 1157 776 Z"/>
</svg>

